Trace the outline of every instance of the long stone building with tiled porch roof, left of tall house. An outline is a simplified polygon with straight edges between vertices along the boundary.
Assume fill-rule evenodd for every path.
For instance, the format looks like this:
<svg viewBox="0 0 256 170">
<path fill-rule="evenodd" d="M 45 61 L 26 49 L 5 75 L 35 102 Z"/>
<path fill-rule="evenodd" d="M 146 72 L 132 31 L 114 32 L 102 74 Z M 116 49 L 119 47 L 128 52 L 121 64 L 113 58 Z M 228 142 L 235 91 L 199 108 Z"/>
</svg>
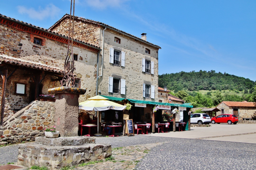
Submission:
<svg viewBox="0 0 256 170">
<path fill-rule="evenodd" d="M 67 46 L 68 37 L 65 35 L 0 15 L 1 123 L 6 125 L 16 112 L 34 100 L 54 101 L 47 90 L 60 86 Z M 95 45 L 74 40 L 73 54 L 76 68 L 74 73 L 78 78 L 75 83 L 77 87 L 87 90 L 86 94 L 80 97 L 80 101 L 96 93 L 99 52 L 100 48 Z M 3 94 L 5 96 L 2 96 Z M 50 112 L 44 117 L 40 111 L 38 118 L 29 116 L 30 120 L 22 122 L 22 130 L 32 129 L 31 126 L 33 126 L 32 130 L 42 130 L 43 126 L 49 124 L 43 122 L 48 121 L 46 118 L 51 114 Z M 15 119 L 18 117 L 15 116 Z M 35 125 L 28 125 L 32 119 L 38 120 Z M 5 134 L 11 135 L 7 132 Z M 1 129 L 0 135 L 3 135 Z M 1 136 L 1 139 L 4 137 Z"/>
</svg>

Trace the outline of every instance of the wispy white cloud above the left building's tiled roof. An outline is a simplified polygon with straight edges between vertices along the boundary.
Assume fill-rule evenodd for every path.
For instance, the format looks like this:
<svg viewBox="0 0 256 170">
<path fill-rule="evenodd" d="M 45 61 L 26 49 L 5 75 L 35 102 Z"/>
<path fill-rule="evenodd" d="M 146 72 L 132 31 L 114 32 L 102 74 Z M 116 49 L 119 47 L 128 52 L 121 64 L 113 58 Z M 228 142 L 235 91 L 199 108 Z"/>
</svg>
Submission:
<svg viewBox="0 0 256 170">
<path fill-rule="evenodd" d="M 38 7 L 38 9 L 27 8 L 25 6 L 18 6 L 18 12 L 20 14 L 26 14 L 32 19 L 44 20 L 46 18 L 54 19 L 60 13 L 60 8 L 53 4 L 47 5 L 45 8 Z"/>
</svg>

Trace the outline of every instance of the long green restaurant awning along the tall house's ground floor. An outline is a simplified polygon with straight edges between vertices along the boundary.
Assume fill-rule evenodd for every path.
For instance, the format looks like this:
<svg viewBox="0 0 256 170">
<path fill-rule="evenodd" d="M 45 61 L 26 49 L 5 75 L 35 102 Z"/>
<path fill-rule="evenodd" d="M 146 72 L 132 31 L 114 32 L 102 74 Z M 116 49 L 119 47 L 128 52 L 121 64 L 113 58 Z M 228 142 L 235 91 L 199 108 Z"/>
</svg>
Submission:
<svg viewBox="0 0 256 170">
<path fill-rule="evenodd" d="M 125 98 L 117 98 L 117 97 L 111 97 L 111 96 L 106 96 L 106 95 L 101 95 L 103 97 L 108 98 L 109 100 L 114 100 L 114 101 L 122 101 Z M 160 102 L 155 102 L 155 101 L 146 101 L 146 100 L 134 100 L 134 99 L 127 99 L 128 101 L 132 103 L 143 103 L 143 104 L 149 104 L 149 105 L 167 105 L 167 106 L 180 106 L 180 107 L 189 107 L 193 108 L 191 105 L 180 105 L 180 104 L 172 104 L 172 103 L 160 103 Z"/>
</svg>

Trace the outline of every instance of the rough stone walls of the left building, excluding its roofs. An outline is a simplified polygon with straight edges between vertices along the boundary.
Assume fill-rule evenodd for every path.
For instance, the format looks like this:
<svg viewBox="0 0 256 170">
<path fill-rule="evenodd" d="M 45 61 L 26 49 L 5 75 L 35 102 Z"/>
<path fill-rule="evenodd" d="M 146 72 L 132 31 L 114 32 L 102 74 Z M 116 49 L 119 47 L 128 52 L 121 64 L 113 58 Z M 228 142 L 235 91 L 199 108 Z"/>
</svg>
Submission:
<svg viewBox="0 0 256 170">
<path fill-rule="evenodd" d="M 7 21 L 7 22 L 6 22 Z M 41 45 L 34 44 L 34 38 L 41 40 Z M 23 22 L 14 23 L 11 19 L 0 16 L 0 55 L 14 57 L 20 61 L 40 64 L 52 68 L 63 69 L 67 54 L 67 38 L 57 34 L 50 34 L 45 29 L 29 26 Z M 78 55 L 75 61 L 74 73 L 80 79 L 80 88 L 87 93 L 80 96 L 79 101 L 84 101 L 96 94 L 97 52 L 100 49 L 78 41 L 74 42 L 73 54 Z M 15 66 L 8 67 L 8 75 Z M 19 109 L 26 107 L 33 97 L 31 89 L 34 80 L 32 75 L 40 73 L 42 79 L 44 72 L 18 68 L 7 81 L 4 122 Z M 59 75 L 61 77 L 61 75 Z M 0 84 L 2 84 L 0 79 Z M 15 83 L 26 84 L 24 95 L 15 94 Z M 48 94 L 48 88 L 60 86 L 58 75 L 47 73 L 41 83 L 40 94 Z M 2 97 L 2 85 L 0 86 L 0 99 Z M 33 93 L 34 94 L 34 93 Z"/>
</svg>

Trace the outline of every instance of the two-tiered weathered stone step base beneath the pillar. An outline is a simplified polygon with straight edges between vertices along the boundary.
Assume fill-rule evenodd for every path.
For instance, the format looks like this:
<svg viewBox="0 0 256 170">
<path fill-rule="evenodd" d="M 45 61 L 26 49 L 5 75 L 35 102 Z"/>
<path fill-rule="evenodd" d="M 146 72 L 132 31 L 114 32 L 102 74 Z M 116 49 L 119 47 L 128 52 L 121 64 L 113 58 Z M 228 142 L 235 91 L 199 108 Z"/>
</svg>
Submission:
<svg viewBox="0 0 256 170">
<path fill-rule="evenodd" d="M 45 142 L 45 145 L 42 144 Z M 85 144 L 86 143 L 86 144 Z M 75 146 L 67 146 L 74 144 Z M 94 137 L 67 137 L 49 139 L 36 137 L 35 143 L 19 144 L 18 165 L 45 166 L 51 170 L 102 160 L 112 155 L 110 144 L 95 144 Z"/>
</svg>

